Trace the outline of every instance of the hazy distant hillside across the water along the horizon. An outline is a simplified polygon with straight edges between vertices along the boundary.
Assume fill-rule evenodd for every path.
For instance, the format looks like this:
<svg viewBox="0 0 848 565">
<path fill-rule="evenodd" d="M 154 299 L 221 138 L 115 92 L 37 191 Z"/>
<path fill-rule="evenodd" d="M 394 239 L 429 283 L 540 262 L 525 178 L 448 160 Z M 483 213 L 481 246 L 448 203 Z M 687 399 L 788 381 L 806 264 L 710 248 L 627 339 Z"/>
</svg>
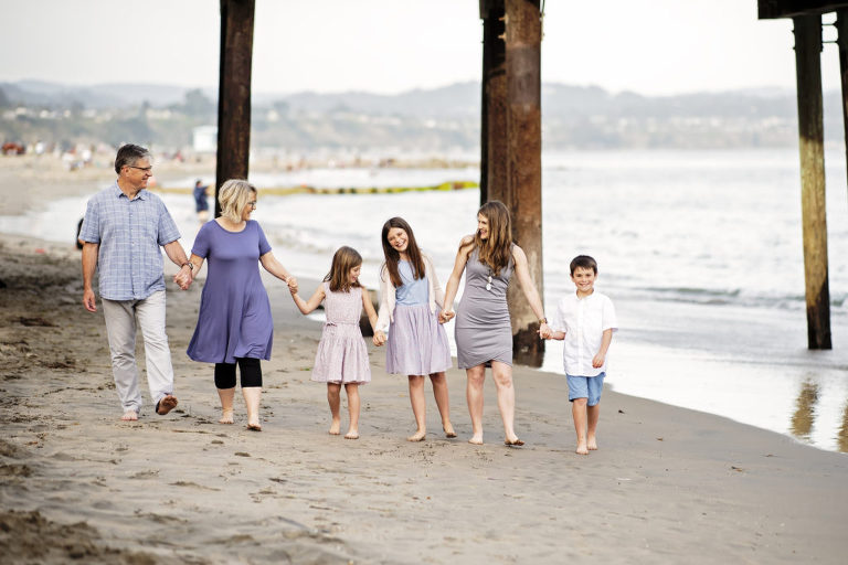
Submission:
<svg viewBox="0 0 848 565">
<path fill-rule="evenodd" d="M 115 142 L 119 137 L 184 147 L 193 127 L 215 122 L 215 96 L 214 90 L 172 85 L 0 83 L 0 106 L 18 108 L 3 114 L 0 137 L 26 142 L 33 137 Z M 827 138 L 841 139 L 839 93 L 826 95 L 825 111 Z M 474 150 L 479 121 L 480 85 L 474 82 L 395 95 L 256 94 L 252 142 L 290 150 Z M 547 83 L 542 122 L 549 149 L 797 143 L 794 92 L 775 88 L 644 96 Z"/>
</svg>

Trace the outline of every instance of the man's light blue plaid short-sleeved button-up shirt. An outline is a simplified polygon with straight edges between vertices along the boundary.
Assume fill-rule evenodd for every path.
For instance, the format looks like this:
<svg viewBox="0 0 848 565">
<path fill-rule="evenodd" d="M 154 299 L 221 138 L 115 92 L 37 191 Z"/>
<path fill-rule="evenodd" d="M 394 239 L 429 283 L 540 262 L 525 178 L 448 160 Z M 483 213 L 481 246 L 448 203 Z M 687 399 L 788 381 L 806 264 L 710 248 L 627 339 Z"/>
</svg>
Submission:
<svg viewBox="0 0 848 565">
<path fill-rule="evenodd" d="M 88 201 L 80 231 L 98 244 L 99 292 L 107 300 L 144 300 L 165 290 L 160 246 L 180 238 L 165 203 L 147 190 L 129 200 L 117 181 Z"/>
</svg>

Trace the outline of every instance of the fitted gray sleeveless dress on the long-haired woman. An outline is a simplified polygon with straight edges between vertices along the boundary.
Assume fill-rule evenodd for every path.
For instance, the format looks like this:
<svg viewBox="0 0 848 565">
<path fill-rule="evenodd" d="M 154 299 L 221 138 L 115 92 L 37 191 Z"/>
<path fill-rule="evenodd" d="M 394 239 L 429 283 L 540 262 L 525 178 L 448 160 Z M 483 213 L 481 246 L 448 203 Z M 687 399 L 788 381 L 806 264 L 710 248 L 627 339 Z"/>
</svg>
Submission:
<svg viewBox="0 0 848 565">
<path fill-rule="evenodd" d="M 512 276 L 512 257 L 500 274 L 491 277 L 491 288 L 486 289 L 491 270 L 478 259 L 474 249 L 465 264 L 465 290 L 456 309 L 454 337 L 456 364 L 469 369 L 487 361 L 500 361 L 512 365 L 512 327 L 507 307 L 507 286 Z"/>
</svg>

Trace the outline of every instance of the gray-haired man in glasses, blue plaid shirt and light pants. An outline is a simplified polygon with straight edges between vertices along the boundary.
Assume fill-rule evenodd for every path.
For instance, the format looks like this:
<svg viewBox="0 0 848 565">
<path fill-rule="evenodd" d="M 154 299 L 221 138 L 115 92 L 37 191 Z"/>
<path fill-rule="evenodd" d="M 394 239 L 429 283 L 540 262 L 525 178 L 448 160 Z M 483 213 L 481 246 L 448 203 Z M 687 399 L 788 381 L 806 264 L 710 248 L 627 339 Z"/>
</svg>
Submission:
<svg viewBox="0 0 848 565">
<path fill-rule="evenodd" d="M 99 271 L 99 294 L 109 339 L 115 387 L 124 407 L 124 420 L 136 420 L 141 411 L 136 365 L 136 324 L 145 340 L 147 381 L 156 413 L 165 415 L 177 406 L 173 367 L 165 332 L 165 248 L 180 271 L 174 281 L 183 290 L 191 285 L 186 252 L 178 242 L 180 232 L 165 203 L 148 192 L 152 174 L 150 152 L 125 145 L 115 158 L 118 179 L 92 196 L 80 231 L 83 245 L 83 305 L 97 311 L 92 288 Z"/>
</svg>

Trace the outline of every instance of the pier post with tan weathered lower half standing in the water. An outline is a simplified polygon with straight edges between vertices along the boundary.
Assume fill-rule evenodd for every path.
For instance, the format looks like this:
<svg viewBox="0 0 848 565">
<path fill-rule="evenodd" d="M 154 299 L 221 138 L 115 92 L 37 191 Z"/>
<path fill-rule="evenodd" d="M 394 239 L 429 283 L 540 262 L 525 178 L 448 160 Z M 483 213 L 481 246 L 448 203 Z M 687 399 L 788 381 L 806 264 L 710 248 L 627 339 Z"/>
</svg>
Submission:
<svg viewBox="0 0 848 565">
<path fill-rule="evenodd" d="M 807 298 L 807 348 L 831 349 L 830 291 L 827 273 L 825 151 L 822 115 L 822 17 L 792 19 L 798 96 L 801 204 L 804 278 Z"/>
</svg>

